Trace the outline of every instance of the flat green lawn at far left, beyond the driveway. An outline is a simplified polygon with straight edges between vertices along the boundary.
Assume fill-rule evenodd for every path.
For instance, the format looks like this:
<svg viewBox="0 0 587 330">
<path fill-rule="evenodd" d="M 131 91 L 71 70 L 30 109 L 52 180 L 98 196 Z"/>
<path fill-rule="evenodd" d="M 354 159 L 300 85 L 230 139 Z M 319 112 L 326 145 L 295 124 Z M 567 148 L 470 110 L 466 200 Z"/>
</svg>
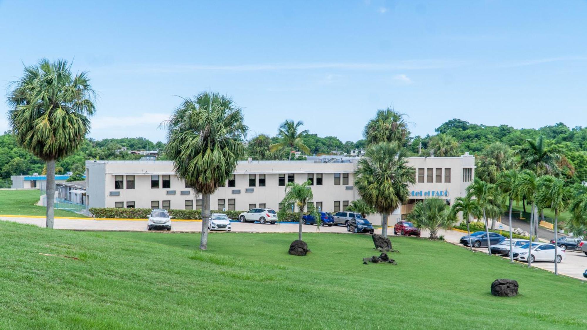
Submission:
<svg viewBox="0 0 587 330">
<path fill-rule="evenodd" d="M 0 190 L 0 214 L 9 215 L 42 215 L 46 214 L 46 207 L 36 206 L 41 192 L 31 190 Z M 56 217 L 85 217 L 84 215 L 55 210 Z"/>
</svg>

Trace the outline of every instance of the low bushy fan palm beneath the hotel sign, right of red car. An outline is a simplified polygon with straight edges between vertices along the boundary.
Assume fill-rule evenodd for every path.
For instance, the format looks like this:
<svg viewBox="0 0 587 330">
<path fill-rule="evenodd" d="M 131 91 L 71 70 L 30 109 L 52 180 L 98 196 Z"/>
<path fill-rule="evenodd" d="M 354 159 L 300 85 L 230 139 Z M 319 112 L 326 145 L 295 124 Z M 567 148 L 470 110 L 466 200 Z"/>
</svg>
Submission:
<svg viewBox="0 0 587 330">
<path fill-rule="evenodd" d="M 416 228 L 430 231 L 430 239 L 438 239 L 438 229 L 450 229 L 457 221 L 456 213 L 440 198 L 426 198 L 419 201 L 407 215 Z"/>
</svg>

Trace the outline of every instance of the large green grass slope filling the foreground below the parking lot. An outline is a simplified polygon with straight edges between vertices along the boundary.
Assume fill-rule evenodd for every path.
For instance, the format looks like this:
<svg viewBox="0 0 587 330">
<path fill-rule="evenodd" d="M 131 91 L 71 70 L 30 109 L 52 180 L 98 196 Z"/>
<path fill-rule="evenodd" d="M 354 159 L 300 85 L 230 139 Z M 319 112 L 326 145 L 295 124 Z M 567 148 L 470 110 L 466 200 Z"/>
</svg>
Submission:
<svg viewBox="0 0 587 330">
<path fill-rule="evenodd" d="M 363 265 L 367 235 L 304 237 L 313 252 L 294 257 L 296 234 L 211 234 L 199 251 L 198 234 L 0 221 L 0 328 L 587 328 L 578 280 L 404 237 L 397 265 Z M 492 297 L 496 278 L 518 280 L 521 295 Z"/>
</svg>

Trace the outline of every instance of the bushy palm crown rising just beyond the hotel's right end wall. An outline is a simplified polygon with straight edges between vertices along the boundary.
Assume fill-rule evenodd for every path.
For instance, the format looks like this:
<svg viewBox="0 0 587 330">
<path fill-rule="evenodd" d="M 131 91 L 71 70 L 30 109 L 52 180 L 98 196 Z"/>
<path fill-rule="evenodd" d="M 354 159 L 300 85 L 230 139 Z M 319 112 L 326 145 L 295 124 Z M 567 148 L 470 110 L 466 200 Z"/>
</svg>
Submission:
<svg viewBox="0 0 587 330">
<path fill-rule="evenodd" d="M 497 183 L 499 174 L 514 166 L 510 147 L 501 142 L 491 143 L 485 147 L 475 160 L 475 176 L 488 183 Z"/>
</svg>

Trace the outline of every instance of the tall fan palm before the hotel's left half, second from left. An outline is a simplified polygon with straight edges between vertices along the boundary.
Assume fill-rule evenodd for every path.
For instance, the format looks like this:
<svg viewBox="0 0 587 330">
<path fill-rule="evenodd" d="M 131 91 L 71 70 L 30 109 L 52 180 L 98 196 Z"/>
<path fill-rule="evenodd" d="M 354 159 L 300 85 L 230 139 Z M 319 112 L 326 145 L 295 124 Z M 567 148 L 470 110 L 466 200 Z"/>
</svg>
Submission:
<svg viewBox="0 0 587 330">
<path fill-rule="evenodd" d="M 206 250 L 210 196 L 245 155 L 242 141 L 248 128 L 242 110 L 230 97 L 201 92 L 194 99 L 184 99 L 164 125 L 165 154 L 173 160 L 177 175 L 202 194 L 200 249 Z"/>
</svg>

